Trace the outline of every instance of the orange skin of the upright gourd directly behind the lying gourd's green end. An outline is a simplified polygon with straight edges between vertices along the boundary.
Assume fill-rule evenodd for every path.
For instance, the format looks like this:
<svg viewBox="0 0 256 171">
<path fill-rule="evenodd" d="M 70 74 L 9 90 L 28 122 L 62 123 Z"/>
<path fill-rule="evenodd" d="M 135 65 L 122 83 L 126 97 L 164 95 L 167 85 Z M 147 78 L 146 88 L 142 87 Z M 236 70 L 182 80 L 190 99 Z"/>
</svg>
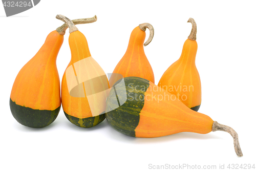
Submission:
<svg viewBox="0 0 256 171">
<path fill-rule="evenodd" d="M 123 77 L 135 76 L 155 82 L 152 67 L 144 53 L 145 36 L 145 31 L 140 30 L 139 26 L 132 31 L 127 50 L 113 73 L 121 74 Z M 116 81 L 110 79 L 110 85 Z"/>
</svg>

